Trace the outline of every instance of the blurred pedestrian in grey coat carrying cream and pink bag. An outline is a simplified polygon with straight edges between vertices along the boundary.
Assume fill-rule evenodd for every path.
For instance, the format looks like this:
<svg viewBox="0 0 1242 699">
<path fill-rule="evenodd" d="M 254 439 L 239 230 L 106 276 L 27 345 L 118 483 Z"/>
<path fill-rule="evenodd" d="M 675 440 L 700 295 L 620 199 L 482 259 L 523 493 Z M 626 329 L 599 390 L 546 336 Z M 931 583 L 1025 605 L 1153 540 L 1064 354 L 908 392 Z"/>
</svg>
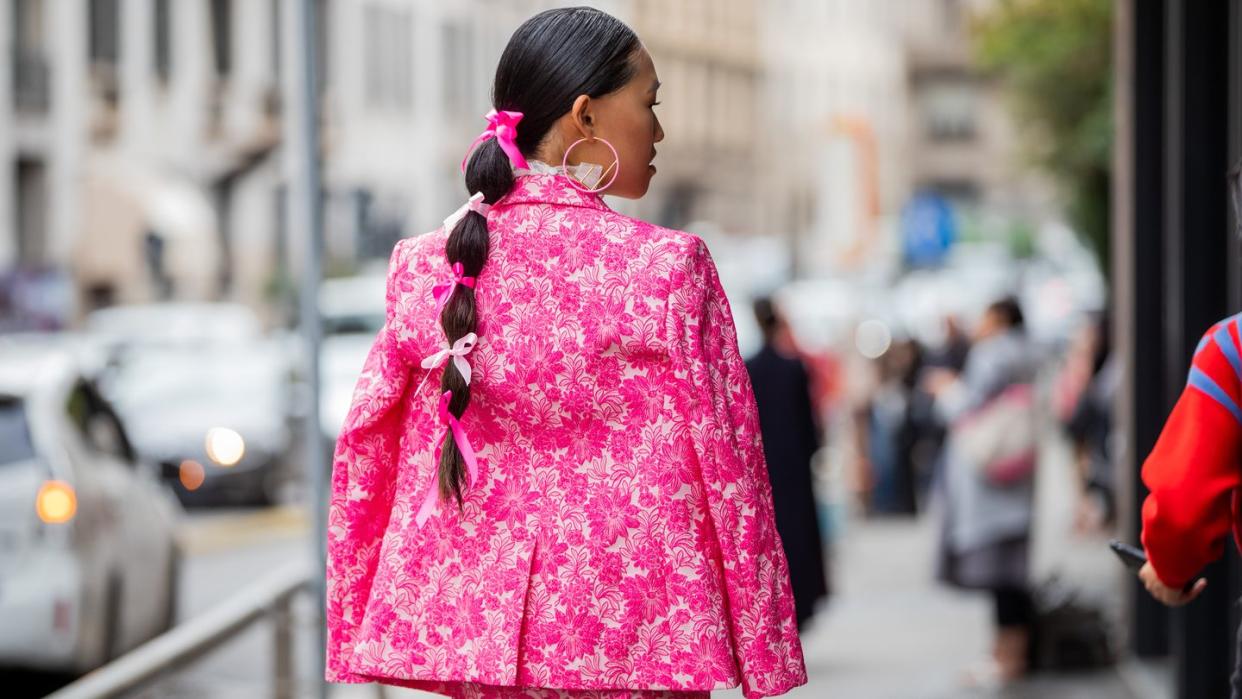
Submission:
<svg viewBox="0 0 1242 699">
<path fill-rule="evenodd" d="M 1022 309 L 991 304 L 960 375 L 936 370 L 928 390 L 950 425 L 939 576 L 986 590 L 995 603 L 992 657 L 966 675 L 992 685 L 1026 674 L 1035 605 L 1027 581 L 1035 480 L 1035 374 Z"/>
</svg>

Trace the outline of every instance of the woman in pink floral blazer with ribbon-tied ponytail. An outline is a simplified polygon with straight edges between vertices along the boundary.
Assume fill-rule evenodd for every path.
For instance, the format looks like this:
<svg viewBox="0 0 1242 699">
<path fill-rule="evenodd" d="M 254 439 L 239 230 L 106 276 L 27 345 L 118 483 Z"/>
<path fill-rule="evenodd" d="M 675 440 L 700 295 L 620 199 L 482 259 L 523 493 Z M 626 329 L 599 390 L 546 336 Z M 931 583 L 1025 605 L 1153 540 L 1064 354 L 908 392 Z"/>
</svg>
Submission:
<svg viewBox="0 0 1242 699">
<path fill-rule="evenodd" d="M 600 196 L 656 174 L 658 84 L 596 10 L 509 40 L 472 196 L 397 243 L 337 443 L 329 680 L 505 698 L 806 682 L 715 268 Z"/>
</svg>

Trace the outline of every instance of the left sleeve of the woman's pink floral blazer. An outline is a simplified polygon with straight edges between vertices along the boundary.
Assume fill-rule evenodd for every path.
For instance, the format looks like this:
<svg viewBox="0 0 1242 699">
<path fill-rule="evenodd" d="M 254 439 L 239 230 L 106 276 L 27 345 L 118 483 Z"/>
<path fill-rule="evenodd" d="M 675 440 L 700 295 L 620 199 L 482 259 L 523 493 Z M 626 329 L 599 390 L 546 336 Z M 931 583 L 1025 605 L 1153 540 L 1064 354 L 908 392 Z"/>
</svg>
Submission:
<svg viewBox="0 0 1242 699">
<path fill-rule="evenodd" d="M 412 368 L 397 343 L 400 279 L 407 241 L 397 243 L 386 286 L 386 323 L 366 356 L 332 464 L 328 504 L 328 682 L 363 683 L 349 670 L 366 612 L 380 544 L 392 509 L 404 397 Z"/>
</svg>

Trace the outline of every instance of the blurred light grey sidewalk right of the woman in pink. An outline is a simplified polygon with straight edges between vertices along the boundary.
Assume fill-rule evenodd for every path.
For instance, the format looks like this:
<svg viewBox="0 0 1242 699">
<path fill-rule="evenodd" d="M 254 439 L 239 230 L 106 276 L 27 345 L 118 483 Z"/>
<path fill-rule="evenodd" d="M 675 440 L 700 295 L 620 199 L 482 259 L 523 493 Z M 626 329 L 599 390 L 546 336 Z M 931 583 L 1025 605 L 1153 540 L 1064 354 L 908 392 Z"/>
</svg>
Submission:
<svg viewBox="0 0 1242 699">
<path fill-rule="evenodd" d="M 804 638 L 811 683 L 790 697 L 1131 697 L 1112 669 L 1038 674 L 999 693 L 965 689 L 963 668 L 990 648 L 991 601 L 938 585 L 934 551 L 930 518 L 854 524 L 835 556 L 836 595 Z"/>
</svg>

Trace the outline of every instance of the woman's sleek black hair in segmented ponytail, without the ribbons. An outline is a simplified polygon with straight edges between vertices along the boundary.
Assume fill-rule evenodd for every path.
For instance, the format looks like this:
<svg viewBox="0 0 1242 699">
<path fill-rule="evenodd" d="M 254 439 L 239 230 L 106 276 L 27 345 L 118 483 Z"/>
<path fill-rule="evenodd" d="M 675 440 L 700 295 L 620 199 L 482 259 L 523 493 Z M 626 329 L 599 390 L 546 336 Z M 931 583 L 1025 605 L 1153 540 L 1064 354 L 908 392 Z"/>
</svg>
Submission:
<svg viewBox="0 0 1242 699">
<path fill-rule="evenodd" d="M 616 17 L 592 7 L 548 10 L 527 20 L 504 47 L 492 84 L 497 110 L 522 112 L 517 145 L 530 156 L 548 130 L 574 106 L 579 96 L 604 97 L 625 87 L 637 68 L 633 55 L 638 36 Z M 466 189 L 483 192 L 496 204 L 513 189 L 513 170 L 497 140 L 479 145 L 466 165 Z M 487 217 L 466 214 L 448 235 L 450 266 L 461 262 L 465 276 L 477 277 L 487 262 Z M 440 314 L 448 343 L 474 333 L 478 314 L 474 291 L 458 286 Z M 469 385 L 453 363 L 445 365 L 441 392 L 452 391 L 448 411 L 461 417 L 469 405 Z M 462 504 L 466 463 L 457 443 L 446 437 L 440 456 L 440 497 Z"/>
</svg>

